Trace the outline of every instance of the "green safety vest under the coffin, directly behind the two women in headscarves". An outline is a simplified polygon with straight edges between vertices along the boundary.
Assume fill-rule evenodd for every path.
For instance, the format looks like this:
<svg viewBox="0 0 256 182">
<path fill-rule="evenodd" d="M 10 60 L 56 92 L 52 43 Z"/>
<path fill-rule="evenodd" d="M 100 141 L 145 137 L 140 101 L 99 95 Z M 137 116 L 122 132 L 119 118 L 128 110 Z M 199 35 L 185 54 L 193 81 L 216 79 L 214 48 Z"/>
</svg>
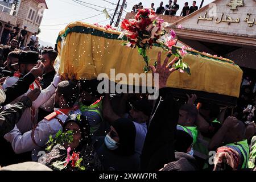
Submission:
<svg viewBox="0 0 256 182">
<path fill-rule="evenodd" d="M 82 102 L 79 102 L 79 108 L 81 112 L 90 111 L 90 112 L 98 113 L 98 115 L 100 115 L 101 117 L 101 121 L 103 121 L 102 100 L 98 100 L 90 106 L 83 105 Z M 90 126 L 90 133 L 94 133 L 95 131 L 97 131 L 100 126 L 101 126 L 101 123 L 98 123 L 96 126 Z"/>
</svg>

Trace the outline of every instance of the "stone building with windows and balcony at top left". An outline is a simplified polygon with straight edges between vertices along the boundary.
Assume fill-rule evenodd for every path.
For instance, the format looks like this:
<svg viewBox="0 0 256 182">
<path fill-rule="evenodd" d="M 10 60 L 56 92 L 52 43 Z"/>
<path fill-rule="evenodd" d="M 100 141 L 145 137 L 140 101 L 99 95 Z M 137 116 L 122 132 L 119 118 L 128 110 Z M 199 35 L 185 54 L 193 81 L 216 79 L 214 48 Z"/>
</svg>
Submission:
<svg viewBox="0 0 256 182">
<path fill-rule="evenodd" d="M 9 21 L 12 27 L 17 24 L 20 24 L 20 28 L 26 26 L 29 34 L 26 45 L 30 36 L 38 32 L 45 9 L 48 9 L 45 0 L 0 0 L 0 35 Z"/>
</svg>

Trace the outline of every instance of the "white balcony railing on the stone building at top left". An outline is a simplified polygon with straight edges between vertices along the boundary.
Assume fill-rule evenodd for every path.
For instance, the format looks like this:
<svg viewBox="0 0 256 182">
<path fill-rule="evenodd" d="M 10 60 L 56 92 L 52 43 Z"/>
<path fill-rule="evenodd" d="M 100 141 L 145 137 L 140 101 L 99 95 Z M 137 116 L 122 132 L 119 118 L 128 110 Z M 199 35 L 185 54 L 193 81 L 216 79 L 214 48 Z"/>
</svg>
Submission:
<svg viewBox="0 0 256 182">
<path fill-rule="evenodd" d="M 20 0 L 0 0 L 0 11 L 16 16 L 19 10 Z"/>
</svg>

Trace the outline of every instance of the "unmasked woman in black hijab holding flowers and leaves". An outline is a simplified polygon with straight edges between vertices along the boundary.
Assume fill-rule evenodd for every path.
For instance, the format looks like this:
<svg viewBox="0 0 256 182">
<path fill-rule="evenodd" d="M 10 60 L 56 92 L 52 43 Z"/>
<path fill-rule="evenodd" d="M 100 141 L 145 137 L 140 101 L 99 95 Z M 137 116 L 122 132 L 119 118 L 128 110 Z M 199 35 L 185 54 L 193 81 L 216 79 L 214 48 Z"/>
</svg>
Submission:
<svg viewBox="0 0 256 182">
<path fill-rule="evenodd" d="M 71 143 L 64 142 L 56 144 L 52 150 L 44 156 L 40 163 L 57 170 L 76 171 L 79 168 L 73 167 L 71 161 L 63 168 L 59 162 L 67 162 L 72 159 L 73 152 L 79 154 L 82 159 L 80 166 L 86 171 L 101 171 L 103 169 L 100 160 L 92 146 L 90 137 L 90 126 L 85 117 L 82 115 L 72 114 L 66 119 L 63 126 L 63 133 L 73 131 L 73 140 Z M 69 153 L 69 155 L 68 155 Z"/>
</svg>

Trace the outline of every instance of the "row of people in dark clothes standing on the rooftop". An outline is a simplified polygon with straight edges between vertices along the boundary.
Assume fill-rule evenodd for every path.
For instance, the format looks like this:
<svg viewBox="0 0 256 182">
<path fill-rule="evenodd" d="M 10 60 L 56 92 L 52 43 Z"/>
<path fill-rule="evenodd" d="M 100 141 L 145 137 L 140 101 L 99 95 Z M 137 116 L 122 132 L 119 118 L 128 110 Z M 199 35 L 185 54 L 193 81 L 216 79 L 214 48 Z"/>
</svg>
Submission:
<svg viewBox="0 0 256 182">
<path fill-rule="evenodd" d="M 138 10 L 143 9 L 142 3 L 138 3 L 138 5 L 133 6 L 133 10 L 131 13 L 137 13 Z M 155 10 L 155 3 L 151 3 L 151 7 L 153 11 L 155 11 L 156 14 L 159 15 L 171 15 L 171 16 L 176 16 L 177 11 L 180 9 L 180 5 L 177 4 L 177 0 L 170 0 L 168 2 L 168 5 L 164 6 L 164 2 L 160 2 L 159 7 Z M 192 6 L 189 7 L 188 2 L 184 3 L 184 7 L 180 13 L 180 16 L 187 16 L 195 11 L 198 10 L 198 6 L 196 6 L 196 1 L 193 1 Z"/>
</svg>

